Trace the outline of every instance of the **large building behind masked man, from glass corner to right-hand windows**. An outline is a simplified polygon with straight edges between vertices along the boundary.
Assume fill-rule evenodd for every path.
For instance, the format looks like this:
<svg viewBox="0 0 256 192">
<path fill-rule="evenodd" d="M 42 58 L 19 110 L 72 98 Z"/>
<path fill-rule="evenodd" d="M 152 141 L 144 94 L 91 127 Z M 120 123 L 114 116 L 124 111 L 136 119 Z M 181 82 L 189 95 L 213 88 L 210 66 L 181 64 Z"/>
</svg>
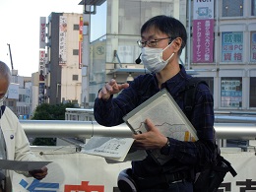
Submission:
<svg viewBox="0 0 256 192">
<path fill-rule="evenodd" d="M 255 111 L 255 0 L 104 1 L 90 14 L 90 106 L 111 78 L 123 83 L 129 75 L 147 73 L 135 62 L 141 52 L 136 41 L 144 22 L 160 14 L 186 26 L 188 43 L 181 64 L 209 83 L 215 110 Z M 99 25 L 104 29 L 95 37 Z"/>
</svg>

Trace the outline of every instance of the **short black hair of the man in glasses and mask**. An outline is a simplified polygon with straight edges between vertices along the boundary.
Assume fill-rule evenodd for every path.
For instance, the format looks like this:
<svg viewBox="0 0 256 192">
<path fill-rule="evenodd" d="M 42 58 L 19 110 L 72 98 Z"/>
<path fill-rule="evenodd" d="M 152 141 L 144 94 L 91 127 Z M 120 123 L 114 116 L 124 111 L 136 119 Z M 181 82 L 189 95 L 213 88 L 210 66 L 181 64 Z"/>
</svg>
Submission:
<svg viewBox="0 0 256 192">
<path fill-rule="evenodd" d="M 183 24 L 175 18 L 169 16 L 156 16 L 148 20 L 141 28 L 141 34 L 149 31 L 151 28 L 155 28 L 160 32 L 166 33 L 173 40 L 175 37 L 181 37 L 182 44 L 178 51 L 178 55 L 181 54 L 182 49 L 187 43 L 187 32 Z"/>
</svg>

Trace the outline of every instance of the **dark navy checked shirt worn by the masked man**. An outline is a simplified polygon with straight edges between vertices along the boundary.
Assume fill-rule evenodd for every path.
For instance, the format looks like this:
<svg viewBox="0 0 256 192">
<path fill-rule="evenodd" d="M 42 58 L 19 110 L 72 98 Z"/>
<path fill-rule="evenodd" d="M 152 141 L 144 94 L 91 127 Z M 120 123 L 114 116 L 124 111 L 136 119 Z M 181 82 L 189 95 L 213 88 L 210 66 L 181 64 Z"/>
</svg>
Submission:
<svg viewBox="0 0 256 192">
<path fill-rule="evenodd" d="M 184 111 L 184 99 L 180 90 L 188 83 L 191 76 L 186 74 L 182 65 L 180 72 L 163 83 L 165 88 Z M 111 96 L 108 100 L 96 98 L 96 122 L 103 126 L 116 126 L 123 123 L 122 117 L 144 102 L 151 96 L 160 92 L 155 74 L 140 75 L 130 83 L 130 87 L 123 90 L 118 96 Z M 196 164 L 214 160 L 215 130 L 214 130 L 214 100 L 209 88 L 200 84 L 195 96 L 194 108 L 191 118 L 192 125 L 197 130 L 197 142 L 181 142 L 170 139 L 171 160 L 159 165 L 150 156 L 145 160 L 133 161 L 133 171 L 138 176 L 158 176 L 163 172 L 175 172 L 189 169 Z"/>
</svg>

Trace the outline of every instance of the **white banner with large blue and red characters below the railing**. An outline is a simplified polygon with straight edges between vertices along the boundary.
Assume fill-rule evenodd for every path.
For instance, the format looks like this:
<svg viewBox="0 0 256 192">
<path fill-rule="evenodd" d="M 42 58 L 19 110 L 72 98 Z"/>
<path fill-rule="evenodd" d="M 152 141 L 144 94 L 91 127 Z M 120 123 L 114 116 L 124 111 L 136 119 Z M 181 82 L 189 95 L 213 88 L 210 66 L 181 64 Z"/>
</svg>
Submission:
<svg viewBox="0 0 256 192">
<path fill-rule="evenodd" d="M 42 180 L 14 175 L 14 191 L 50 192 L 114 192 L 117 191 L 119 172 L 131 167 L 131 162 L 107 163 L 103 158 L 74 152 L 40 152 L 42 160 L 53 161 L 47 165 L 48 175 Z M 228 172 L 219 188 L 223 192 L 256 190 L 254 152 L 222 153 L 237 172 L 235 177 Z"/>
</svg>

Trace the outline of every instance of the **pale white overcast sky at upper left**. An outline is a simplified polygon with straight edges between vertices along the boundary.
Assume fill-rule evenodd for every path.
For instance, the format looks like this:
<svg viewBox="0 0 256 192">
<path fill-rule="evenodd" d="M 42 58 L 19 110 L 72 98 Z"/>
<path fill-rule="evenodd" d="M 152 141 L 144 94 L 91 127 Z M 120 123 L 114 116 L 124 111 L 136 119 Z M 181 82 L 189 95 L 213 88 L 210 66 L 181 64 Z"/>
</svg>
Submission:
<svg viewBox="0 0 256 192">
<path fill-rule="evenodd" d="M 10 69 L 11 45 L 13 66 L 20 76 L 38 71 L 39 18 L 51 12 L 82 14 L 81 0 L 0 0 L 0 60 Z"/>
</svg>

